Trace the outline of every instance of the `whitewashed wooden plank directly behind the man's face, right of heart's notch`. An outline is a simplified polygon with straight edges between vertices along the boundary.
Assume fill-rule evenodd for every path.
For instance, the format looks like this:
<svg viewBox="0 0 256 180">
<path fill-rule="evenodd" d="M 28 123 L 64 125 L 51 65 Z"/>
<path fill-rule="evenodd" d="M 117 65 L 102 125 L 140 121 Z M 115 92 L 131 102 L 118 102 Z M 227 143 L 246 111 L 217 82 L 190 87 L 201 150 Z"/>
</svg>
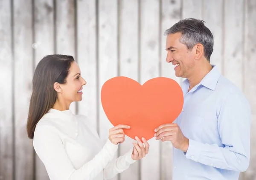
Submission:
<svg viewBox="0 0 256 180">
<path fill-rule="evenodd" d="M 162 15 L 161 15 L 161 76 L 174 79 L 177 83 L 180 83 L 180 78 L 175 76 L 175 70 L 172 63 L 166 62 L 166 36 L 163 35 L 164 31 L 175 23 L 177 23 L 182 16 L 181 0 L 162 1 Z M 172 143 L 170 141 L 161 142 L 161 180 L 172 179 Z"/>
</svg>

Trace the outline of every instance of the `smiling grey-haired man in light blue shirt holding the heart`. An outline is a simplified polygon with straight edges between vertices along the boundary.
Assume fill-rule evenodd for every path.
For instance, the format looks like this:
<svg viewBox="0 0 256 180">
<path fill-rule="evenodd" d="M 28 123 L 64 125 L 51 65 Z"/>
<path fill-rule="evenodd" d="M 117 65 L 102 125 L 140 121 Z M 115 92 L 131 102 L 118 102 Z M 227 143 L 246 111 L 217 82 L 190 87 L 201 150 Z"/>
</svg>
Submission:
<svg viewBox="0 0 256 180">
<path fill-rule="evenodd" d="M 165 35 L 166 61 L 186 78 L 182 112 L 155 129 L 157 140 L 172 141 L 173 180 L 238 180 L 250 160 L 250 104 L 210 64 L 213 36 L 204 21 L 181 20 Z"/>
</svg>

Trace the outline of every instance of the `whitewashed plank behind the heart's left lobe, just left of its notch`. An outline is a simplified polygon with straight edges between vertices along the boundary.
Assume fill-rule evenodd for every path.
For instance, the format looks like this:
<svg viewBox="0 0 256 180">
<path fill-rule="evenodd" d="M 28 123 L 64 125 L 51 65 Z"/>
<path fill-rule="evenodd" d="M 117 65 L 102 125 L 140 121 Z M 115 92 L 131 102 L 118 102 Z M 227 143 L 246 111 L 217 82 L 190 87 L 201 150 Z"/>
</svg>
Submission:
<svg viewBox="0 0 256 180">
<path fill-rule="evenodd" d="M 138 81 L 138 0 L 121 0 L 119 17 L 119 59 L 120 76 L 127 76 Z M 133 147 L 134 140 L 125 137 L 120 144 L 120 155 L 124 155 Z M 139 180 L 139 161 L 133 163 L 129 169 L 120 174 L 119 180 Z"/>
</svg>

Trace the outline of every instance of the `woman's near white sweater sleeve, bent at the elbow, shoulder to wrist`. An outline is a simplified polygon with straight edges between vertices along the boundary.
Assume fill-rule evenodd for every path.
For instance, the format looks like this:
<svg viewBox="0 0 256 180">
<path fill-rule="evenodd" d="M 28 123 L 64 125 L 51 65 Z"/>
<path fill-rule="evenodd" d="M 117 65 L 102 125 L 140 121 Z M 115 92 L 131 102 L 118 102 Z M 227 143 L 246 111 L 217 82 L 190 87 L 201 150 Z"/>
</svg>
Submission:
<svg viewBox="0 0 256 180">
<path fill-rule="evenodd" d="M 118 145 L 108 140 L 92 160 L 75 169 L 54 127 L 37 126 L 33 146 L 50 180 L 93 180 L 111 162 L 118 149 Z"/>
</svg>

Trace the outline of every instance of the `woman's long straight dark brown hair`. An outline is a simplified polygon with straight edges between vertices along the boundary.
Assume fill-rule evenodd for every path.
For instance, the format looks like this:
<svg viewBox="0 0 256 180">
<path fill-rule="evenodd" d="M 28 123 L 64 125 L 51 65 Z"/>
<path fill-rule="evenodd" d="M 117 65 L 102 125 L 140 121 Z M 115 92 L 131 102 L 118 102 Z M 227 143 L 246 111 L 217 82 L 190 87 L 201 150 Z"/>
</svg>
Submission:
<svg viewBox="0 0 256 180">
<path fill-rule="evenodd" d="M 38 121 L 53 107 L 57 100 L 57 92 L 53 84 L 66 83 L 73 56 L 48 55 L 38 63 L 32 81 L 32 95 L 29 104 L 27 119 L 27 134 L 34 138 L 35 127 Z"/>
</svg>

